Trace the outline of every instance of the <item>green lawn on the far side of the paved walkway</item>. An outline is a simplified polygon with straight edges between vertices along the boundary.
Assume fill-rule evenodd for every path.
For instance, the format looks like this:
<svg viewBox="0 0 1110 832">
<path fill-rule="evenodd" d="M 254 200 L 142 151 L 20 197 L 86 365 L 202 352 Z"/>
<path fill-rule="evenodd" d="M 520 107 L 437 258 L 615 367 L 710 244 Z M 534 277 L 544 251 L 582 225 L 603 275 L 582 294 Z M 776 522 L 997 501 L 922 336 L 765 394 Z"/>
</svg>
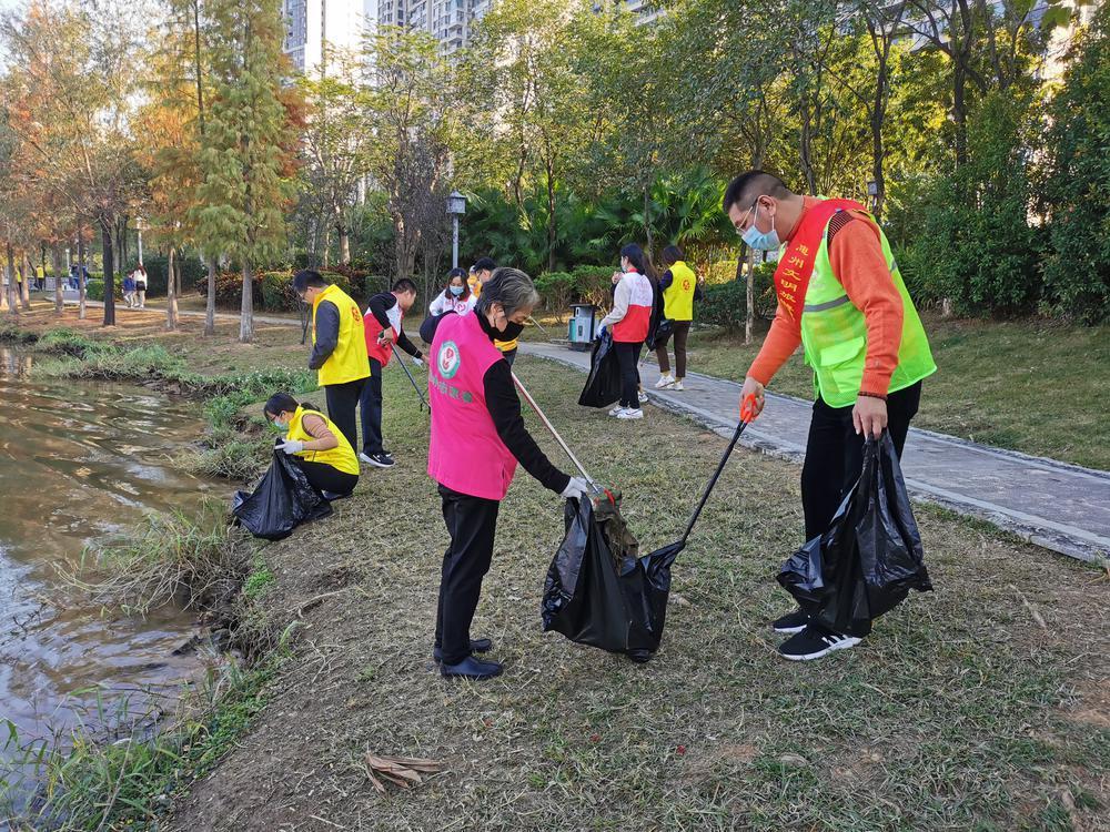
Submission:
<svg viewBox="0 0 1110 832">
<path fill-rule="evenodd" d="M 925 325 L 938 372 L 925 382 L 916 427 L 1110 469 L 1110 326 L 931 316 Z M 720 332 L 696 332 L 689 369 L 743 381 L 761 341 L 763 332 L 750 346 Z M 654 382 L 654 371 L 648 375 Z M 813 397 L 813 376 L 800 355 L 779 371 L 770 389 Z"/>
</svg>

